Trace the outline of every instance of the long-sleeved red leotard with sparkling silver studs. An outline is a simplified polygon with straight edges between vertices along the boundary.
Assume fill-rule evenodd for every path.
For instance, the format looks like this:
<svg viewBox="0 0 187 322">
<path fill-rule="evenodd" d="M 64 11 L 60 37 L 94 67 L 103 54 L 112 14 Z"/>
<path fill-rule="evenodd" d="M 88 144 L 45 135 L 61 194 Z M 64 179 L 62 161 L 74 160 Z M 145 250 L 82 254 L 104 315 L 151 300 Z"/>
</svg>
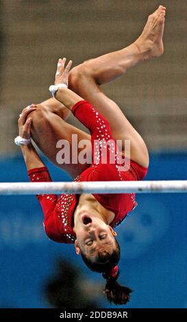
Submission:
<svg viewBox="0 0 187 322">
<path fill-rule="evenodd" d="M 135 181 L 145 177 L 147 168 L 132 160 L 127 170 L 128 164 L 121 159 L 110 124 L 90 103 L 79 101 L 73 106 L 72 112 L 90 130 L 92 143 L 92 164 L 74 181 Z M 106 156 L 105 163 L 104 155 Z M 32 182 L 51 181 L 45 166 L 32 169 L 28 171 L 28 174 Z M 93 194 L 93 196 L 103 207 L 114 212 L 115 217 L 110 223 L 111 227 L 119 225 L 137 205 L 134 193 Z M 62 194 L 60 197 L 37 195 L 37 198 L 45 217 L 44 225 L 47 236 L 58 243 L 74 243 L 76 236 L 73 232 L 73 213 L 79 201 L 79 195 Z"/>
</svg>

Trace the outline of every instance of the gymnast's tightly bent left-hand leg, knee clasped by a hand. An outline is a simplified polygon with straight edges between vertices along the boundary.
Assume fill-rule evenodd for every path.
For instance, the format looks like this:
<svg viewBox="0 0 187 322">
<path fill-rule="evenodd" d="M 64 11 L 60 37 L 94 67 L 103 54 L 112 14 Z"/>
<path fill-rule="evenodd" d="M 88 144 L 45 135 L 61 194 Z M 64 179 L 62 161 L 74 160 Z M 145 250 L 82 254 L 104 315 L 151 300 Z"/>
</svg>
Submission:
<svg viewBox="0 0 187 322">
<path fill-rule="evenodd" d="M 77 127 L 67 123 L 65 120 L 68 118 L 70 111 L 56 99 L 47 99 L 37 105 L 34 112 L 30 113 L 32 115 L 32 138 L 40 150 L 49 158 L 53 164 L 59 166 L 61 169 L 66 171 L 73 178 L 77 177 L 82 171 L 88 168 L 89 164 L 79 162 L 77 158 L 77 163 L 72 164 L 72 152 L 73 152 L 73 140 L 77 140 L 77 145 L 81 143 L 82 140 L 86 140 L 82 143 L 86 144 L 86 147 L 91 153 L 90 145 L 90 134 L 78 129 Z M 75 134 L 73 139 L 73 134 Z M 58 154 L 60 150 L 65 149 L 64 146 L 58 146 L 57 143 L 60 140 L 66 140 L 69 144 L 69 149 L 67 147 L 66 153 L 70 152 L 70 161 L 61 164 L 62 158 Z M 61 149 L 62 147 L 62 149 Z M 77 148 L 77 156 L 85 148 L 85 146 L 79 146 Z M 74 148 L 76 149 L 76 147 Z M 75 152 L 75 151 L 74 151 Z M 57 156 L 59 156 L 57 158 Z"/>
</svg>

